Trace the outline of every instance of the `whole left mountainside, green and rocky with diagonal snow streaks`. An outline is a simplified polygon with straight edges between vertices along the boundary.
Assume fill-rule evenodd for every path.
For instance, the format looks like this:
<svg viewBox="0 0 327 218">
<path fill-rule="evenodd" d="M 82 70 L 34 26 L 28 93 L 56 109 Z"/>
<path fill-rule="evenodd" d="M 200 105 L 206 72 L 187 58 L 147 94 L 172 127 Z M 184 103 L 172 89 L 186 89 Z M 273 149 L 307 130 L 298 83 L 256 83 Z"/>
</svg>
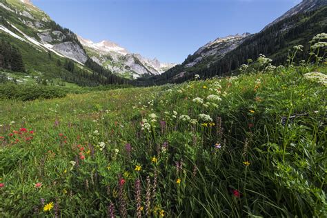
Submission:
<svg viewBox="0 0 327 218">
<path fill-rule="evenodd" d="M 19 50 L 29 75 L 82 86 L 126 83 L 92 61 L 74 32 L 29 0 L 0 0 L 0 40 Z"/>
</svg>

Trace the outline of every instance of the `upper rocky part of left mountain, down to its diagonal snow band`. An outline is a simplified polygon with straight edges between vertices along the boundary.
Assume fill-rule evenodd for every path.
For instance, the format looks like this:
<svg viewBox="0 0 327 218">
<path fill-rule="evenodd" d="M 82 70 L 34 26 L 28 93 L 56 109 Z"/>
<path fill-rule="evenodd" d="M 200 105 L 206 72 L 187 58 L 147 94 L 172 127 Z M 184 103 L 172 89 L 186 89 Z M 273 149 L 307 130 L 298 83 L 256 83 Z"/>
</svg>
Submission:
<svg viewBox="0 0 327 218">
<path fill-rule="evenodd" d="M 0 3 L 1 10 L 8 12 L 6 24 L 1 23 L 0 29 L 21 41 L 41 50 L 72 59 L 80 64 L 88 57 L 75 38 L 75 34 L 67 29 L 59 28 L 48 15 L 28 0 L 10 0 Z M 10 19 L 14 16 L 16 19 Z"/>
</svg>

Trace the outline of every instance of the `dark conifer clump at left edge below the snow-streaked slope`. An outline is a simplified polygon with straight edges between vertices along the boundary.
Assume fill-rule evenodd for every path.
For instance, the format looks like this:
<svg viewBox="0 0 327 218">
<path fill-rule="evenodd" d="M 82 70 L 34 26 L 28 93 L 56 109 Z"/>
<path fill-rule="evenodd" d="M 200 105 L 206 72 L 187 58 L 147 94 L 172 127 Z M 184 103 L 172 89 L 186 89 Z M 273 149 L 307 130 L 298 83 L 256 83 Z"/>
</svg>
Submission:
<svg viewBox="0 0 327 218">
<path fill-rule="evenodd" d="M 25 72 L 21 53 L 7 41 L 0 41 L 0 69 Z"/>
</svg>

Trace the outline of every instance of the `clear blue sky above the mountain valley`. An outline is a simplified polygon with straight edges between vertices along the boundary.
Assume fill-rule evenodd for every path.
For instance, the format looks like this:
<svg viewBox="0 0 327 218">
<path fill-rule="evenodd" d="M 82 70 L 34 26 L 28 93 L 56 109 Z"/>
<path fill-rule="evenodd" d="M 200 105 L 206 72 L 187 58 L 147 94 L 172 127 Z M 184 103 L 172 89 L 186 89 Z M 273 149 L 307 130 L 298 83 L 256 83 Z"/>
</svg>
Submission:
<svg viewBox="0 0 327 218">
<path fill-rule="evenodd" d="M 61 26 L 92 41 L 181 63 L 228 34 L 259 32 L 301 0 L 33 0 Z"/>
</svg>

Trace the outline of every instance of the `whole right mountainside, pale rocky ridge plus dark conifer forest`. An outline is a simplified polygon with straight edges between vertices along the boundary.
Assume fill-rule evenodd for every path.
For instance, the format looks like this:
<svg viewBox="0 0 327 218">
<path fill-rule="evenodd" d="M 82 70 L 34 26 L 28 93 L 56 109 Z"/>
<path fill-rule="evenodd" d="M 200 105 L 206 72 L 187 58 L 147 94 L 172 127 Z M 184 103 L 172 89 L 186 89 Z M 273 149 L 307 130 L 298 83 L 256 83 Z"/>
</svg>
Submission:
<svg viewBox="0 0 327 218">
<path fill-rule="evenodd" d="M 138 81 L 153 85 L 179 83 L 193 79 L 195 75 L 202 78 L 226 75 L 247 63 L 248 59 L 257 59 L 259 54 L 266 54 L 276 65 L 284 64 L 288 49 L 302 44 L 304 52 L 301 54 L 305 54 L 310 46 L 308 41 L 321 32 L 327 32 L 327 1 L 304 0 L 257 34 L 217 39 L 189 55 L 184 63 L 161 75 Z"/>
</svg>

